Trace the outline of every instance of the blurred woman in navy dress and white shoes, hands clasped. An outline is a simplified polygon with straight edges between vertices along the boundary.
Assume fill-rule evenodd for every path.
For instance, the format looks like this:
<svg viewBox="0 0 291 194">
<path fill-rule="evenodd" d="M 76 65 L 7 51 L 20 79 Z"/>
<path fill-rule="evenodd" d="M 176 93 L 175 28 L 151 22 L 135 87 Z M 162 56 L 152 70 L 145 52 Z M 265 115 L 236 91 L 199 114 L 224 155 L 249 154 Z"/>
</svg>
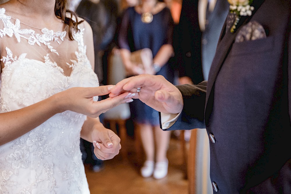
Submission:
<svg viewBox="0 0 291 194">
<path fill-rule="evenodd" d="M 138 6 L 127 8 L 121 19 L 118 45 L 127 75 L 157 74 L 174 82 L 174 69 L 168 64 L 173 56 L 173 18 L 164 2 L 142 0 Z M 130 61 L 131 52 L 144 48 L 152 50 L 153 65 L 149 70 L 143 70 Z M 157 111 L 139 99 L 129 106 L 135 127 L 141 132 L 146 154 L 141 175 L 161 179 L 168 172 L 166 154 L 171 134 L 159 128 Z"/>
</svg>

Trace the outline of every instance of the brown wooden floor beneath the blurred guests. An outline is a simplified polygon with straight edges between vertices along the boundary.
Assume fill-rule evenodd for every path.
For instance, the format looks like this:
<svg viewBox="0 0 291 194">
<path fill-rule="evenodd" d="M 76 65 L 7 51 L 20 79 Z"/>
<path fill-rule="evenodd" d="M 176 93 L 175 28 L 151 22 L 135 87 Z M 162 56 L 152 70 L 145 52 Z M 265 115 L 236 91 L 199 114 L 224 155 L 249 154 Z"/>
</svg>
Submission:
<svg viewBox="0 0 291 194">
<path fill-rule="evenodd" d="M 101 172 L 92 172 L 85 166 L 91 194 L 187 194 L 188 181 L 184 177 L 180 141 L 171 138 L 168 149 L 168 175 L 163 179 L 143 178 L 139 170 L 144 159 L 135 157 L 133 140 L 129 137 L 121 144 L 127 150 L 127 161 L 119 154 L 114 159 L 104 161 Z M 189 146 L 188 143 L 186 146 Z M 142 154 L 143 155 L 143 154 Z"/>
</svg>

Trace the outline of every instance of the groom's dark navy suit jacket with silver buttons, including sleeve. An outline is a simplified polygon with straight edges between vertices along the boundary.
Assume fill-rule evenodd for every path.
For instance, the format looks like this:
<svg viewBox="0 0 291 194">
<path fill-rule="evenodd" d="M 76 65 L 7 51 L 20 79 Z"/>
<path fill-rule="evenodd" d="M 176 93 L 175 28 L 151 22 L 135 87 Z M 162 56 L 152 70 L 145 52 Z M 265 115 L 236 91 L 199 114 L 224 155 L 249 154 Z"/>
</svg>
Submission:
<svg viewBox="0 0 291 194">
<path fill-rule="evenodd" d="M 205 119 L 215 140 L 210 178 L 218 193 L 291 193 L 291 2 L 253 6 L 235 33 L 223 26 L 208 82 L 177 86 L 184 109 L 168 130 L 193 129 Z M 249 21 L 267 38 L 235 42 Z"/>
</svg>

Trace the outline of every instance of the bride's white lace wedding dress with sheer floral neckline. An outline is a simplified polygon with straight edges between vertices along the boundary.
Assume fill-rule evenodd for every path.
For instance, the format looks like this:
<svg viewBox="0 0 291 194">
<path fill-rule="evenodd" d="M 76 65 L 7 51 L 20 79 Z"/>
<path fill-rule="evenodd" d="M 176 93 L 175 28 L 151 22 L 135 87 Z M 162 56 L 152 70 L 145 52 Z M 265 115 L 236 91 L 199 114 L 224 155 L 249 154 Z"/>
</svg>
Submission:
<svg viewBox="0 0 291 194">
<path fill-rule="evenodd" d="M 72 41 L 68 27 L 62 32 L 34 28 L 0 9 L 1 113 L 71 87 L 99 85 L 86 56 L 84 24 L 79 26 Z M 70 75 L 55 61 L 67 63 Z M 89 193 L 79 146 L 85 119 L 65 111 L 1 145 L 0 193 Z"/>
</svg>

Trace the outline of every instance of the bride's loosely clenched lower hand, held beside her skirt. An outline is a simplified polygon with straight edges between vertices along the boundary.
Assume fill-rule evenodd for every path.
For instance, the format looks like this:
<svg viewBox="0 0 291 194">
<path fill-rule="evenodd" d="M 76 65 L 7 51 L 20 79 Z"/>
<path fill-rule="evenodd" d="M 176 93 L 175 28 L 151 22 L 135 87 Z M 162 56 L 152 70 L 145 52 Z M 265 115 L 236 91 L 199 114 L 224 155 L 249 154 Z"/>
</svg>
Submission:
<svg viewBox="0 0 291 194">
<path fill-rule="evenodd" d="M 110 129 L 99 127 L 92 133 L 94 154 L 98 159 L 112 159 L 121 149 L 120 138 Z"/>
</svg>

